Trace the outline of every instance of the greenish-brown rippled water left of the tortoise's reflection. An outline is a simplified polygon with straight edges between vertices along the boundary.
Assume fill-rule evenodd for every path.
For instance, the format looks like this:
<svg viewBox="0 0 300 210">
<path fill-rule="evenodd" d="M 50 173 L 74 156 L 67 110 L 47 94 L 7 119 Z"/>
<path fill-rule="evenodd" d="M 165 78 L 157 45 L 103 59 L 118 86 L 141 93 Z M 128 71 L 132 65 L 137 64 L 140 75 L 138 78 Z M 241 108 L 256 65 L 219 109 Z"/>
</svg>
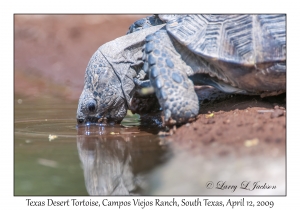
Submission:
<svg viewBox="0 0 300 210">
<path fill-rule="evenodd" d="M 87 194 L 74 109 L 76 104 L 51 98 L 15 97 L 15 195 Z"/>
</svg>

